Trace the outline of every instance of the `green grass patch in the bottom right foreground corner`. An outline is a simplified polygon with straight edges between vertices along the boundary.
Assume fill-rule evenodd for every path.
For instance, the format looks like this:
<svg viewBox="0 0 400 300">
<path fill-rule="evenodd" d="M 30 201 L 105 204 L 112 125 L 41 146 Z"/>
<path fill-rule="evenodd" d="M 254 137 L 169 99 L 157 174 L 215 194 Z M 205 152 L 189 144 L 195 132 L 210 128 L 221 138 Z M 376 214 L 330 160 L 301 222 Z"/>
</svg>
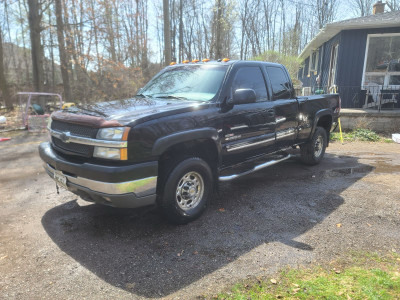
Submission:
<svg viewBox="0 0 400 300">
<path fill-rule="evenodd" d="M 286 269 L 216 299 L 400 299 L 400 256 L 352 253 L 328 267 Z"/>
</svg>

